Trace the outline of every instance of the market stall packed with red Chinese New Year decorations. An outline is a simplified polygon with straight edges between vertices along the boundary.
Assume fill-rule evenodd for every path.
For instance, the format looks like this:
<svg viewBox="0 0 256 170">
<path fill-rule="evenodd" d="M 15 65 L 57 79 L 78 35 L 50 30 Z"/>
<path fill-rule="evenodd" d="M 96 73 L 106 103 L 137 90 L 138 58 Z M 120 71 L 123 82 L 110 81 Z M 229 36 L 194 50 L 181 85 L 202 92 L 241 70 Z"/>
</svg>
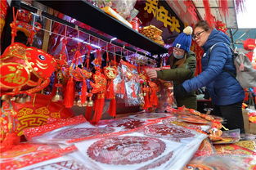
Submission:
<svg viewBox="0 0 256 170">
<path fill-rule="evenodd" d="M 169 69 L 164 34 L 184 24 L 171 12 L 165 31 L 139 28 L 135 3 L 4 4 L 1 169 L 255 169 L 255 141 L 177 107 L 173 83 L 148 77 Z M 161 19 L 154 1 L 144 5 Z"/>
</svg>

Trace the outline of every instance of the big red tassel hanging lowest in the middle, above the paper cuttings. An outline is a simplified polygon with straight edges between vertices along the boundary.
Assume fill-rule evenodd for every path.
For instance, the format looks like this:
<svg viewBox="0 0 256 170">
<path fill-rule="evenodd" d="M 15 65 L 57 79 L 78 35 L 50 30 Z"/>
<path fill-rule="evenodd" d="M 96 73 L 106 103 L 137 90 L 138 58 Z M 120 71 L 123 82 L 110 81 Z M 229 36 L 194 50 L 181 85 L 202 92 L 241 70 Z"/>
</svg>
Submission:
<svg viewBox="0 0 256 170">
<path fill-rule="evenodd" d="M 98 98 L 95 101 L 95 105 L 94 105 L 95 106 L 94 107 L 94 115 L 93 115 L 93 119 L 91 121 L 92 124 L 97 124 L 100 121 L 102 111 L 104 108 L 104 103 L 105 103 L 104 97 L 102 97 L 102 94 L 98 94 Z"/>
</svg>

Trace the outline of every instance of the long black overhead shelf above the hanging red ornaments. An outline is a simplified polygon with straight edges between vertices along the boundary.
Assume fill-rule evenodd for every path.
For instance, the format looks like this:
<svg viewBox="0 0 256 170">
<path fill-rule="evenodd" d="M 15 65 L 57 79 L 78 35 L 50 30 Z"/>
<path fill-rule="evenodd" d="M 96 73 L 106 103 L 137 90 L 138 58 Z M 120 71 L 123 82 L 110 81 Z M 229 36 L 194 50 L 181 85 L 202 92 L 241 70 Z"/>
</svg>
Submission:
<svg viewBox="0 0 256 170">
<path fill-rule="evenodd" d="M 70 16 L 80 22 L 90 25 L 95 29 L 128 42 L 132 46 L 139 47 L 142 50 L 149 51 L 151 55 L 167 53 L 168 49 L 153 42 L 146 36 L 124 25 L 114 17 L 107 15 L 101 9 L 94 7 L 92 4 L 83 1 L 40 1 L 47 7 Z"/>
</svg>

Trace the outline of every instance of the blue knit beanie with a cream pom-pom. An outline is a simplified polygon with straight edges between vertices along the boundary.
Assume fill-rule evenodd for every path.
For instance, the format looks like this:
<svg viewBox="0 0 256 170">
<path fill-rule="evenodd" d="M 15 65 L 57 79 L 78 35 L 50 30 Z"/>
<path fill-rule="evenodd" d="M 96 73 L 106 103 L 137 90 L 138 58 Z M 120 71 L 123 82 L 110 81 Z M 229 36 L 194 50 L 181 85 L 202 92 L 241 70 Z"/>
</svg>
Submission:
<svg viewBox="0 0 256 170">
<path fill-rule="evenodd" d="M 193 29 L 191 26 L 187 26 L 185 29 L 183 29 L 183 33 L 179 34 L 177 38 L 175 38 L 173 42 L 173 47 L 181 48 L 187 52 L 190 51 L 192 32 L 193 32 Z"/>
</svg>

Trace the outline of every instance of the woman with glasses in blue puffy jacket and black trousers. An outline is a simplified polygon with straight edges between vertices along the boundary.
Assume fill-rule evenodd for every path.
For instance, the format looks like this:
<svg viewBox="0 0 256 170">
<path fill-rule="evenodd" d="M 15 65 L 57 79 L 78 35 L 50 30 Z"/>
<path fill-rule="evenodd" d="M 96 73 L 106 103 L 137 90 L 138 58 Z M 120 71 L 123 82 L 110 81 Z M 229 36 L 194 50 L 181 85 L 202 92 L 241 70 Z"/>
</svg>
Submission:
<svg viewBox="0 0 256 170">
<path fill-rule="evenodd" d="M 245 132 L 241 109 L 245 92 L 236 78 L 224 71 L 236 74 L 230 38 L 201 20 L 195 25 L 194 39 L 204 49 L 201 59 L 203 71 L 177 87 L 174 96 L 186 96 L 187 92 L 207 87 L 213 102 L 213 114 L 227 119 L 227 128 L 240 128 L 240 132 Z"/>
</svg>

